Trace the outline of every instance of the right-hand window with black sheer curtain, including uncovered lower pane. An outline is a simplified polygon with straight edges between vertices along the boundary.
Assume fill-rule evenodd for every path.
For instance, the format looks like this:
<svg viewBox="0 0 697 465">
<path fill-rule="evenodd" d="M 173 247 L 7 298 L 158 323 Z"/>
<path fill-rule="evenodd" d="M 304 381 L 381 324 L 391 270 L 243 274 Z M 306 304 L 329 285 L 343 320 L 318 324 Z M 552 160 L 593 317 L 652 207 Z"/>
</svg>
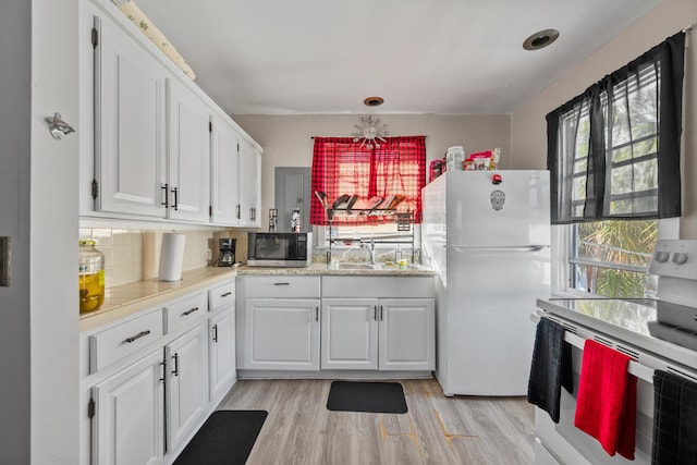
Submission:
<svg viewBox="0 0 697 465">
<path fill-rule="evenodd" d="M 641 295 L 659 219 L 681 213 L 683 33 L 547 115 L 552 223 L 571 287 Z"/>
</svg>

